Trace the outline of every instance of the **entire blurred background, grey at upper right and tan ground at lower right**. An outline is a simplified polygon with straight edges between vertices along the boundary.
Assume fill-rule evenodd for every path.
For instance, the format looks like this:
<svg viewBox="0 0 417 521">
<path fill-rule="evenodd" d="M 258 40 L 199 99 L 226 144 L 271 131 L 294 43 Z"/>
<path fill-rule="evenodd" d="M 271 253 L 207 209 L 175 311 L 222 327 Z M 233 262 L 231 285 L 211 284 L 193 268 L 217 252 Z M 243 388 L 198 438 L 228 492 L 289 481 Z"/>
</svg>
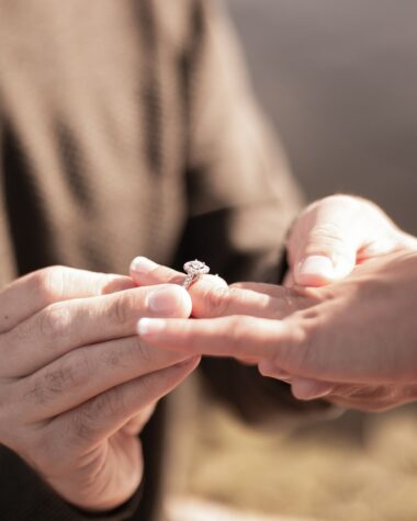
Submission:
<svg viewBox="0 0 417 521">
<path fill-rule="evenodd" d="M 227 4 L 307 197 L 361 194 L 416 234 L 417 2 Z M 259 435 L 203 409 L 191 491 L 278 519 L 417 519 L 414 406 L 281 427 Z"/>
</svg>

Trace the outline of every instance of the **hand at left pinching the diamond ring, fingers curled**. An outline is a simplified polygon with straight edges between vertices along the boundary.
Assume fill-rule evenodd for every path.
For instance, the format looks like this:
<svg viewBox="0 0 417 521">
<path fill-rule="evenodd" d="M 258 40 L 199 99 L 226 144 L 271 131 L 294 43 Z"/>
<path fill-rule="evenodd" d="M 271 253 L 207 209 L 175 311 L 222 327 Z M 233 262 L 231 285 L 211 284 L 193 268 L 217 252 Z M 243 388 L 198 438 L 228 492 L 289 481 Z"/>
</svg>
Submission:
<svg viewBox="0 0 417 521">
<path fill-rule="evenodd" d="M 54 267 L 3 290 L 0 310 L 0 443 L 80 508 L 123 503 L 142 480 L 137 433 L 198 364 L 147 348 L 136 322 L 188 317 L 188 293 Z"/>
</svg>

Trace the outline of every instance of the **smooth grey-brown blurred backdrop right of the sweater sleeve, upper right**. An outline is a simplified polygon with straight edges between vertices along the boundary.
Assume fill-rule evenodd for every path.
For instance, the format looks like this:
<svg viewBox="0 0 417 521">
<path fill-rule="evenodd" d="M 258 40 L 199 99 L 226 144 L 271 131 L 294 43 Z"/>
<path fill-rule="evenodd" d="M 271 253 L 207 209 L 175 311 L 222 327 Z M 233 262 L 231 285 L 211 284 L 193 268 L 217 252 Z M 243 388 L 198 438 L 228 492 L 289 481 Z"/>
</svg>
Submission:
<svg viewBox="0 0 417 521">
<path fill-rule="evenodd" d="M 226 3 L 308 197 L 359 193 L 417 233 L 417 2 Z"/>
</svg>

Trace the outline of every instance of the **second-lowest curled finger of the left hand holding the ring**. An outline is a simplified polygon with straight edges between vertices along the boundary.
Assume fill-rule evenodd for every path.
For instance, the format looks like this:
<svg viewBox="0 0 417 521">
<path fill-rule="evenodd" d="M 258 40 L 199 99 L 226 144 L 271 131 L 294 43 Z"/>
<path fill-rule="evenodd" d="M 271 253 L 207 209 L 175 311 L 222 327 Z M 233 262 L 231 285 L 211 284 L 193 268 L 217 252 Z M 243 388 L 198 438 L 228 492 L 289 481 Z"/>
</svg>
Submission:
<svg viewBox="0 0 417 521">
<path fill-rule="evenodd" d="M 30 422 L 46 420 L 187 358 L 149 348 L 137 336 L 76 349 L 19 382 L 14 388 L 19 414 Z"/>
</svg>

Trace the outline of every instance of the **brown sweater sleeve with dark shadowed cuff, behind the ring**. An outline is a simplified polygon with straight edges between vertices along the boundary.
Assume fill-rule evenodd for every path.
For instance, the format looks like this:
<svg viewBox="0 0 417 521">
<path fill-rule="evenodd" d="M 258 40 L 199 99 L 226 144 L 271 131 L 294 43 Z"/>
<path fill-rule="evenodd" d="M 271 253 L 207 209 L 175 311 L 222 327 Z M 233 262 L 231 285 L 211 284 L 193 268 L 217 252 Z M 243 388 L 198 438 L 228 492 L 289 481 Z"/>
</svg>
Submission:
<svg viewBox="0 0 417 521">
<path fill-rule="evenodd" d="M 279 283 L 285 269 L 285 235 L 302 197 L 253 100 L 223 14 L 215 1 L 195 2 L 192 45 L 184 59 L 189 220 L 178 267 L 199 258 L 229 283 Z M 323 401 L 295 400 L 288 384 L 232 360 L 206 359 L 202 372 L 212 393 L 249 421 L 328 409 Z"/>
</svg>

